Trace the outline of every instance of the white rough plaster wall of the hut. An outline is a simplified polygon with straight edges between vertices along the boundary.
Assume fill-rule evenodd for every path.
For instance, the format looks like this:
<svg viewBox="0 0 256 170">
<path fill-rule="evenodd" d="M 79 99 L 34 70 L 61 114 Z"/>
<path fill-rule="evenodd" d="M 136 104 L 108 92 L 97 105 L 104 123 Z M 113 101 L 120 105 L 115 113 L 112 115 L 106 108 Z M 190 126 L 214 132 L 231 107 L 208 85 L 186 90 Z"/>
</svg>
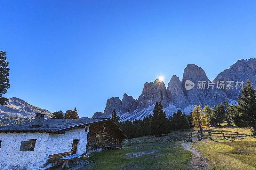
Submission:
<svg viewBox="0 0 256 170">
<path fill-rule="evenodd" d="M 73 129 L 63 135 L 53 133 L 0 133 L 0 170 L 27 169 L 44 167 L 49 155 L 69 152 L 74 139 L 79 139 L 76 154 L 86 150 L 87 132 L 85 129 Z M 21 141 L 37 139 L 34 151 L 20 151 Z"/>
</svg>

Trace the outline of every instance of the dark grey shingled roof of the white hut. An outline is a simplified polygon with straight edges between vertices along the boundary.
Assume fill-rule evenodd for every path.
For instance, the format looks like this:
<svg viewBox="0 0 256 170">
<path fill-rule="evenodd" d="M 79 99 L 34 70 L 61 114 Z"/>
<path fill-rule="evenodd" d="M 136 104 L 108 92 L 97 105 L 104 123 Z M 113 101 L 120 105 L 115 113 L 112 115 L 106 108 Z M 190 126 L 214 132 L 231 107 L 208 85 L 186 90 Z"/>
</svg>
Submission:
<svg viewBox="0 0 256 170">
<path fill-rule="evenodd" d="M 44 121 L 44 126 L 32 128 L 32 122 L 21 123 L 7 126 L 0 126 L 0 132 L 14 131 L 43 131 L 43 132 L 62 132 L 76 127 L 90 125 L 96 122 L 111 120 L 109 118 L 99 119 L 52 119 Z"/>
</svg>

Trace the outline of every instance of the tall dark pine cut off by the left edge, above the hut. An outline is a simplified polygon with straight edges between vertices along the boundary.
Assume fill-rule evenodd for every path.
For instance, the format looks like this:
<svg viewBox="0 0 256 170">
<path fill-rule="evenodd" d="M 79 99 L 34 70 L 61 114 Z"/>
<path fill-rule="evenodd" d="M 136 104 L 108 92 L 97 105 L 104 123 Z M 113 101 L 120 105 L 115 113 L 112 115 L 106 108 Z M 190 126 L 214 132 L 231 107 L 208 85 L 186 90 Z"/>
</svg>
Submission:
<svg viewBox="0 0 256 170">
<path fill-rule="evenodd" d="M 4 51 L 0 51 L 0 105 L 7 104 L 7 98 L 2 95 L 7 92 L 7 89 L 10 88 L 10 79 L 9 79 L 9 71 L 8 62 L 6 61 Z"/>
</svg>

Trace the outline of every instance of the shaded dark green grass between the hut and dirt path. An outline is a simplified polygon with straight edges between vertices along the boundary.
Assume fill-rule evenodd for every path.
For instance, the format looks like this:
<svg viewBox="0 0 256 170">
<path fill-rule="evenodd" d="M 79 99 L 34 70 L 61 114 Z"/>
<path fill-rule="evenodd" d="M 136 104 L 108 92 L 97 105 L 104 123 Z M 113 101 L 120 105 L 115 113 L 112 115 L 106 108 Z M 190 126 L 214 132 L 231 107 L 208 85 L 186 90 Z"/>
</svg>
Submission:
<svg viewBox="0 0 256 170">
<path fill-rule="evenodd" d="M 156 152 L 134 158 L 125 155 L 148 151 Z M 191 152 L 184 151 L 179 141 L 132 144 L 123 150 L 92 152 L 89 159 L 95 163 L 84 169 L 187 169 L 190 158 Z"/>
</svg>

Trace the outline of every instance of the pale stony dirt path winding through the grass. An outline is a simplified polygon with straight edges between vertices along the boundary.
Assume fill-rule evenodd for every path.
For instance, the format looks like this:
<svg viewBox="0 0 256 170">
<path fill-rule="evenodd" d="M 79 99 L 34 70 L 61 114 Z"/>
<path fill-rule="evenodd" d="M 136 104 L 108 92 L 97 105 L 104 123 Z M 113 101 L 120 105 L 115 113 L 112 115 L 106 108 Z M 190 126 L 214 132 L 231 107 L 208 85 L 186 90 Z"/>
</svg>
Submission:
<svg viewBox="0 0 256 170">
<path fill-rule="evenodd" d="M 192 158 L 190 159 L 190 165 L 189 165 L 189 170 L 197 170 L 197 169 L 203 169 L 203 170 L 208 170 L 209 165 L 207 163 L 207 160 L 204 158 L 204 156 L 195 148 L 191 146 L 192 142 L 181 142 L 182 147 L 189 151 L 192 152 Z M 203 166 L 200 166 L 200 165 Z"/>
</svg>

